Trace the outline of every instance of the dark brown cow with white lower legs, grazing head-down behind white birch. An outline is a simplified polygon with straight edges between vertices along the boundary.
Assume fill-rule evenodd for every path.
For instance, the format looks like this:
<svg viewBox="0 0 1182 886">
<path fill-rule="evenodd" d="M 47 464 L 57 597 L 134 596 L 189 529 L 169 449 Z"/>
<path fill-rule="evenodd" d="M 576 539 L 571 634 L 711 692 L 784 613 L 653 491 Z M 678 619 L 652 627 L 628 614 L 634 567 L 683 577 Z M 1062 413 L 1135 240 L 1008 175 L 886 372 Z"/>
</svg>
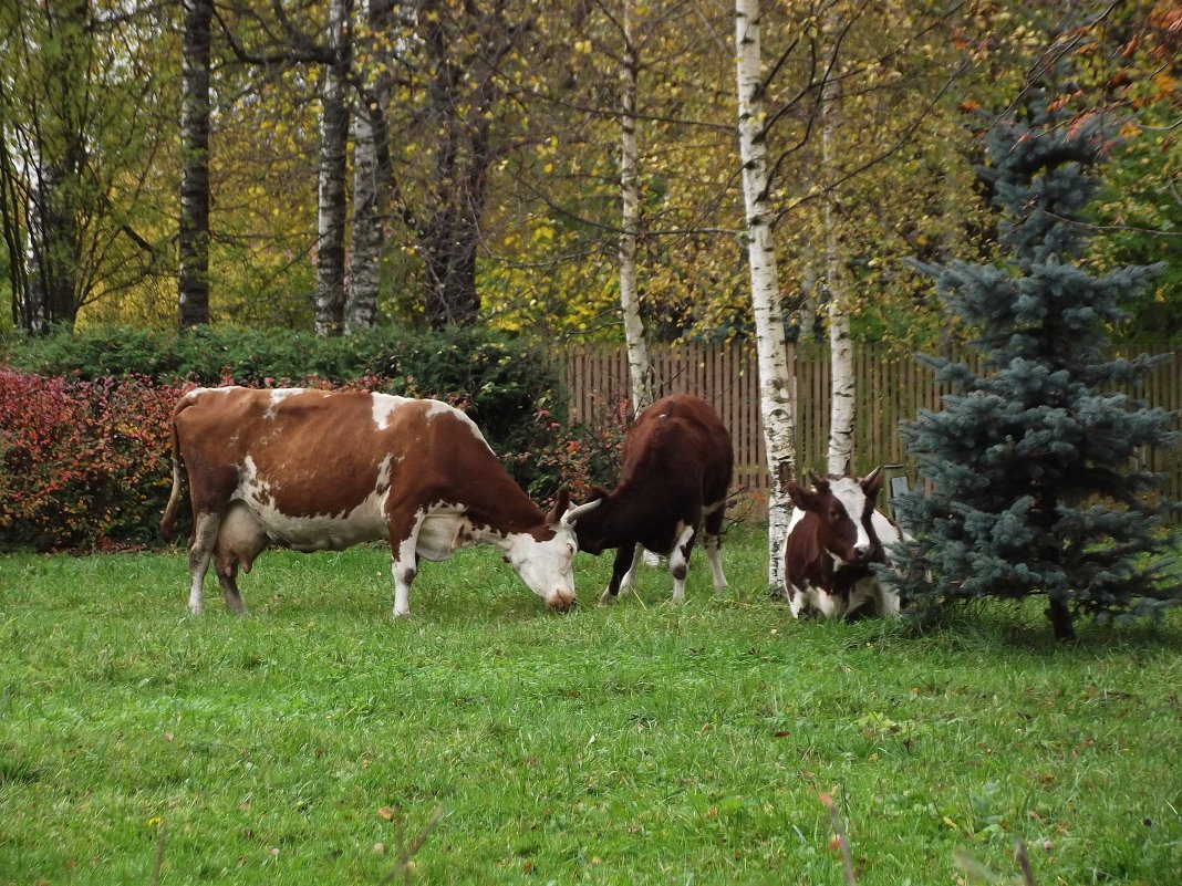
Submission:
<svg viewBox="0 0 1182 886">
<path fill-rule="evenodd" d="M 733 469 L 722 419 L 696 397 L 665 397 L 636 417 L 624 437 L 616 488 L 596 488 L 591 500 L 572 512 L 582 551 L 598 555 L 618 548 L 600 604 L 632 586 L 645 548 L 669 556 L 673 599 L 681 602 L 699 530 L 706 536 L 714 588 L 727 586 L 719 548 Z"/>
</svg>

